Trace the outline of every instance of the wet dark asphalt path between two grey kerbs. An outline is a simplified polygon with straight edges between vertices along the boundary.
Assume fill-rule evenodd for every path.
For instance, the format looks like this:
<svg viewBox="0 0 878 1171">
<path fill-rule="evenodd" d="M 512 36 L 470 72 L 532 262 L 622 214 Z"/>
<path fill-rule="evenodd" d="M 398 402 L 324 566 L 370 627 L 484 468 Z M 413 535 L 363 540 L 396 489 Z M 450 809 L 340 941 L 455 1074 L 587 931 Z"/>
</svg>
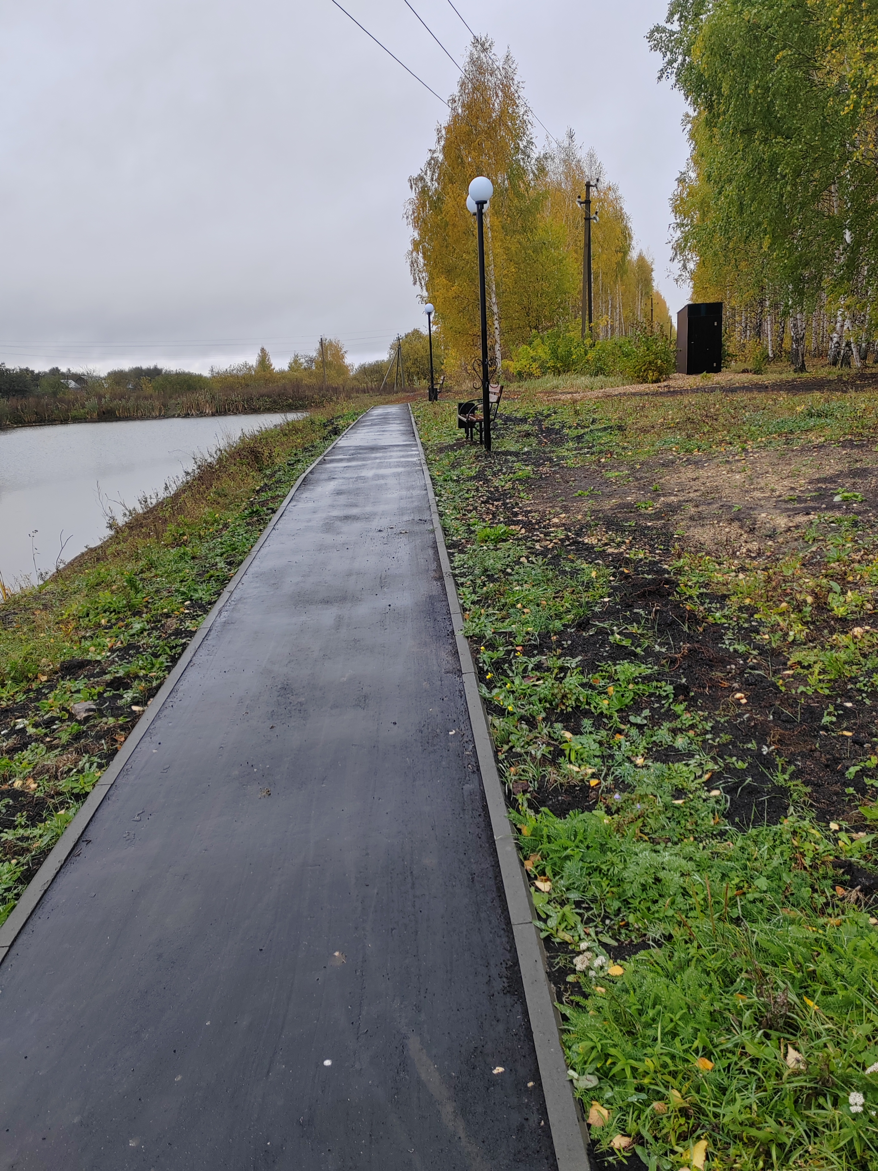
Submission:
<svg viewBox="0 0 878 1171">
<path fill-rule="evenodd" d="M 0 965 L 0 1119 L 8 1171 L 555 1167 L 407 408 L 301 485 Z"/>
</svg>

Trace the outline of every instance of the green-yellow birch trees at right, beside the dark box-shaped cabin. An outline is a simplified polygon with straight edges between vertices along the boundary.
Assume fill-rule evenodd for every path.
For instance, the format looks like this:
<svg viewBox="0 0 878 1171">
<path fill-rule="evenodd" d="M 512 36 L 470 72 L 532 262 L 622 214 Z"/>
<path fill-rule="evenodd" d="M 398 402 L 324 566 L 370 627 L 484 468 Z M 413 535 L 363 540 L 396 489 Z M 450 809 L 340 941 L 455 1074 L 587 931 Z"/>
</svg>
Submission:
<svg viewBox="0 0 878 1171">
<path fill-rule="evenodd" d="M 878 0 L 672 0 L 691 107 L 674 246 L 732 345 L 860 365 L 878 317 Z"/>
</svg>

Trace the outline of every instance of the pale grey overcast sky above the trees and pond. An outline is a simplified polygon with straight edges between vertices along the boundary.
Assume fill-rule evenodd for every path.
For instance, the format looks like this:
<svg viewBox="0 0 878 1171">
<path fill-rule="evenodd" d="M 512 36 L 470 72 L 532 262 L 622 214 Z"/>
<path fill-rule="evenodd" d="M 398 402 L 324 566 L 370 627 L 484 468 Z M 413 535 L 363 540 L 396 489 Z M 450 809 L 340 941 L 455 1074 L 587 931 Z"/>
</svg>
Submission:
<svg viewBox="0 0 878 1171">
<path fill-rule="evenodd" d="M 343 2 L 453 91 L 404 0 Z M 448 0 L 412 5 L 461 60 Z M 509 47 L 549 130 L 595 148 L 675 311 L 685 110 L 644 40 L 666 0 L 455 5 Z M 403 207 L 444 114 L 331 0 L 2 5 L 0 361 L 207 370 L 265 343 L 286 364 L 321 333 L 385 352 L 424 320 Z"/>
</svg>

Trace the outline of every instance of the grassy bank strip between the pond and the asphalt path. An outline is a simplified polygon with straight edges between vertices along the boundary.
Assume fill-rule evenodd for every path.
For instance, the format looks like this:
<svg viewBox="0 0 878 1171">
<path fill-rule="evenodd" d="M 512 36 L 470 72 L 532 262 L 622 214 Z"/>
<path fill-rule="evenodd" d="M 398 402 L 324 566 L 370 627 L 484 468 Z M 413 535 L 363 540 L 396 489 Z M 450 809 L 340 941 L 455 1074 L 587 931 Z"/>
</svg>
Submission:
<svg viewBox="0 0 878 1171">
<path fill-rule="evenodd" d="M 0 922 L 291 485 L 368 405 L 245 437 L 0 605 Z"/>
</svg>

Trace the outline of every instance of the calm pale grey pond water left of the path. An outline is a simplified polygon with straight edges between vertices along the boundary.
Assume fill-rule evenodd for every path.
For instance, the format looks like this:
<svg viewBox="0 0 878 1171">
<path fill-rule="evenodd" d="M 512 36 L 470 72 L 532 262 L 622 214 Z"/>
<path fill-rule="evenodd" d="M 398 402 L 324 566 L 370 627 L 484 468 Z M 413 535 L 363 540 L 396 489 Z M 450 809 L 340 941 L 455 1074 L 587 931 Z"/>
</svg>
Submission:
<svg viewBox="0 0 878 1171">
<path fill-rule="evenodd" d="M 0 432 L 0 577 L 35 582 L 108 535 L 143 495 L 164 493 L 197 454 L 297 415 L 222 415 L 16 427 Z M 63 552 L 62 552 L 63 547 Z"/>
</svg>

